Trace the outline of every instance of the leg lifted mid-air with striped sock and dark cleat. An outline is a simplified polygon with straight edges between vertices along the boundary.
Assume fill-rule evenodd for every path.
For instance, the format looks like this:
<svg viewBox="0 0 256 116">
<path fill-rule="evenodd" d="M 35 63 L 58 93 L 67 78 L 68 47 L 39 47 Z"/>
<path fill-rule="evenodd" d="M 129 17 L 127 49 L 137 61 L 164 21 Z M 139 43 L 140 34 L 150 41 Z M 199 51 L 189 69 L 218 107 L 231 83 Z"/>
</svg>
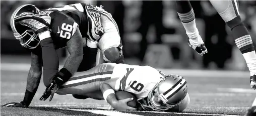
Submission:
<svg viewBox="0 0 256 116">
<path fill-rule="evenodd" d="M 198 28 L 196 26 L 196 19 L 193 8 L 189 1 L 176 1 L 176 8 L 179 19 L 186 30 L 189 43 L 188 45 L 196 50 L 200 55 L 207 53 L 205 44 L 199 35 Z"/>
</svg>

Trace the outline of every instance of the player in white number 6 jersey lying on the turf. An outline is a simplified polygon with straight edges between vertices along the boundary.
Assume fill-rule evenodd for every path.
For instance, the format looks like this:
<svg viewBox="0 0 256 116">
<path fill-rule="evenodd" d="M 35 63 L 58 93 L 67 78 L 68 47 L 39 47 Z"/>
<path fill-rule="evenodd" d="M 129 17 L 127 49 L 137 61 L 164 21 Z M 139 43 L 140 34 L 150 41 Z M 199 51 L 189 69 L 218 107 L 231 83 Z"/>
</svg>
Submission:
<svg viewBox="0 0 256 116">
<path fill-rule="evenodd" d="M 105 99 L 116 110 L 136 110 L 127 106 L 132 98 L 116 99 L 114 91 L 121 90 L 133 93 L 145 110 L 182 111 L 190 101 L 183 77 L 165 75 L 150 66 L 115 63 L 76 72 L 56 93 L 73 94 L 79 99 Z"/>
</svg>

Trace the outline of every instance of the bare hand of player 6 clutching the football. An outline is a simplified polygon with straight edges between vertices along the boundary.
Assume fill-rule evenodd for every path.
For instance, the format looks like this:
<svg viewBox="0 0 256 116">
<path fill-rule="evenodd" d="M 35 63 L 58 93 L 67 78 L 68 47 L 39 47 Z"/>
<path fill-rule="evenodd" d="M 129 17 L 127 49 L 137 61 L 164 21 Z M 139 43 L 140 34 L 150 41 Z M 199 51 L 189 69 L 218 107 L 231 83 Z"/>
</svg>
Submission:
<svg viewBox="0 0 256 116">
<path fill-rule="evenodd" d="M 136 108 L 134 107 L 130 107 L 127 105 L 127 102 L 133 100 L 133 98 L 126 98 L 126 99 L 122 99 L 122 100 L 118 100 L 114 106 L 115 110 L 136 110 Z"/>
</svg>

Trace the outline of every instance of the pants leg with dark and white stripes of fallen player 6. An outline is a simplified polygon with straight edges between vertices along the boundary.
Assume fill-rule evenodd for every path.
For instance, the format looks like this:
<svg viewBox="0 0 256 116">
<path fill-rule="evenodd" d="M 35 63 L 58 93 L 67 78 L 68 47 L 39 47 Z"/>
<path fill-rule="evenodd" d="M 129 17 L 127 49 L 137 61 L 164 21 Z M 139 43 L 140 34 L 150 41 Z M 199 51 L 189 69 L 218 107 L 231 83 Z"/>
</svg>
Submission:
<svg viewBox="0 0 256 116">
<path fill-rule="evenodd" d="M 100 84 L 111 78 L 115 63 L 104 63 L 84 72 L 76 72 L 60 89 L 57 94 L 86 95 L 100 90 Z"/>
</svg>

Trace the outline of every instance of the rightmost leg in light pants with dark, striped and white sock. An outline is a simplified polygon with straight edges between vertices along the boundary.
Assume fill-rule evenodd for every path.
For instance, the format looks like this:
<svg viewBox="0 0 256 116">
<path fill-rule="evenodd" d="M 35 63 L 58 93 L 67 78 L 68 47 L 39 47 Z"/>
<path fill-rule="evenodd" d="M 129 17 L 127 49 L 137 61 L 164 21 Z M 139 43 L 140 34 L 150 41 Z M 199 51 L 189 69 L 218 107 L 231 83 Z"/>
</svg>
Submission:
<svg viewBox="0 0 256 116">
<path fill-rule="evenodd" d="M 235 44 L 241 51 L 250 71 L 250 85 L 256 88 L 256 54 L 251 37 L 238 11 L 237 1 L 210 1 L 225 23 L 230 27 Z"/>
</svg>

